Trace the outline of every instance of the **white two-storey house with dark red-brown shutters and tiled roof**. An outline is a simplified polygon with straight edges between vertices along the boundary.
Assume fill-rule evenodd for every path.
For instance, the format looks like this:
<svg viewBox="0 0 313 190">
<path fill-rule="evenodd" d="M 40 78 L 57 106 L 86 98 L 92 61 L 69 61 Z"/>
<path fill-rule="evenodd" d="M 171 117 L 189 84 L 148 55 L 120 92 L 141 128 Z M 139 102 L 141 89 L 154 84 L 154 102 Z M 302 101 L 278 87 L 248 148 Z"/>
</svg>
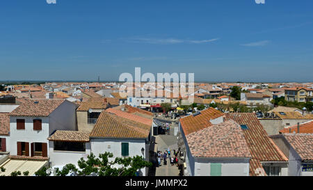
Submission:
<svg viewBox="0 0 313 190">
<path fill-rule="evenodd" d="M 47 138 L 56 130 L 76 130 L 77 105 L 67 100 L 27 100 L 10 113 L 10 155 L 49 157 Z"/>
</svg>

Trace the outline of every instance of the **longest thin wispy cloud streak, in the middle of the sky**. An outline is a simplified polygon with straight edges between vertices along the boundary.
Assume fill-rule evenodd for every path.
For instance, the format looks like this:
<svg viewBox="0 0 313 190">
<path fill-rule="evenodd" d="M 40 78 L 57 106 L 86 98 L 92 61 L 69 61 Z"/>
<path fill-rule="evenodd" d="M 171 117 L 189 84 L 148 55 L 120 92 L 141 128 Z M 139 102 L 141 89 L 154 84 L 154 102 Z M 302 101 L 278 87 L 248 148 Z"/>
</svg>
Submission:
<svg viewBox="0 0 313 190">
<path fill-rule="evenodd" d="M 210 40 L 184 40 L 184 39 L 176 39 L 176 38 L 131 38 L 127 40 L 127 42 L 170 45 L 170 44 L 180 44 L 180 43 L 202 44 L 202 43 L 214 42 L 216 40 L 219 40 L 219 38 L 214 38 Z"/>
</svg>

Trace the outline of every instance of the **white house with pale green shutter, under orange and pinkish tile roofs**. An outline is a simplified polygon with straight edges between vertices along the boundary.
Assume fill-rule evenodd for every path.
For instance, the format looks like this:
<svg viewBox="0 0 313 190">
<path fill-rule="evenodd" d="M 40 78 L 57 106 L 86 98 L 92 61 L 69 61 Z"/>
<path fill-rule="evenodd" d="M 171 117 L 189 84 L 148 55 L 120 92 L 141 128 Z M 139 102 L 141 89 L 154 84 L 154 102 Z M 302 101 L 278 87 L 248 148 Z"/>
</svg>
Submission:
<svg viewBox="0 0 313 190">
<path fill-rule="evenodd" d="M 186 175 L 249 175 L 251 155 L 241 128 L 233 120 L 223 122 L 223 113 L 206 109 L 182 118 L 179 127 L 186 148 Z"/>
</svg>

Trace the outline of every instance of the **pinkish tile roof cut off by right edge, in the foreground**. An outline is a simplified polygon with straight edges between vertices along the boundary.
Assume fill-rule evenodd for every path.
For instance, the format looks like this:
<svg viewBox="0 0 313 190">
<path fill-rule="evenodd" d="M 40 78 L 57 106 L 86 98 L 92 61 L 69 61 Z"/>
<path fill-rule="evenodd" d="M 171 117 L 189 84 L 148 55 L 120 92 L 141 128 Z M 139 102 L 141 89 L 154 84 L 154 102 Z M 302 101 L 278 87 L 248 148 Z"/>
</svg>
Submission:
<svg viewBox="0 0 313 190">
<path fill-rule="evenodd" d="M 313 161 L 313 134 L 283 134 L 303 161 Z"/>
</svg>

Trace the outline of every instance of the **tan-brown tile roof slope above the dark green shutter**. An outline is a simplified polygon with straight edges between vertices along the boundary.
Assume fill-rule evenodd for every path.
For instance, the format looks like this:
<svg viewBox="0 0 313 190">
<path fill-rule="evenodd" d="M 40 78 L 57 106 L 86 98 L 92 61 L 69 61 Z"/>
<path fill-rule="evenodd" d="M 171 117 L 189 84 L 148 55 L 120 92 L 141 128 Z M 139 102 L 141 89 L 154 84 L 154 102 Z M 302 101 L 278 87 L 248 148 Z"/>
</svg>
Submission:
<svg viewBox="0 0 313 190">
<path fill-rule="evenodd" d="M 98 138 L 147 138 L 151 125 L 125 119 L 113 113 L 102 111 L 90 137 Z"/>
</svg>

